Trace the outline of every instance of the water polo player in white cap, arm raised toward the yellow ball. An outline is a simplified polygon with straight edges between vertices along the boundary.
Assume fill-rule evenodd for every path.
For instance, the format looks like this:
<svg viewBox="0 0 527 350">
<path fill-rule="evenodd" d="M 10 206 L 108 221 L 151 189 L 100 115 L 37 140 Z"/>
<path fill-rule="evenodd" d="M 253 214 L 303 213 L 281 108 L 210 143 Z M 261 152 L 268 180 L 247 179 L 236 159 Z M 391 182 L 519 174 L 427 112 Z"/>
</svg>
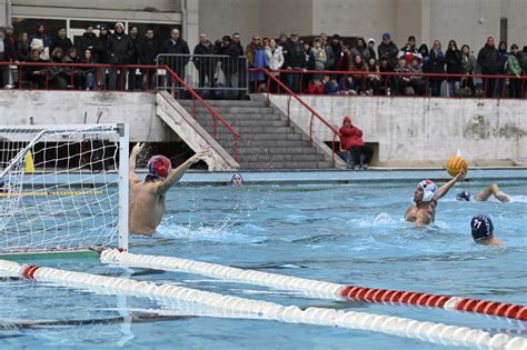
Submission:
<svg viewBox="0 0 527 350">
<path fill-rule="evenodd" d="M 414 204 L 408 207 L 405 212 L 405 220 L 414 221 L 417 226 L 432 223 L 436 217 L 437 201 L 447 194 L 454 183 L 464 177 L 465 173 L 460 171 L 440 188 L 437 188 L 434 181 L 430 180 L 422 180 L 419 182 L 414 193 Z"/>
</svg>

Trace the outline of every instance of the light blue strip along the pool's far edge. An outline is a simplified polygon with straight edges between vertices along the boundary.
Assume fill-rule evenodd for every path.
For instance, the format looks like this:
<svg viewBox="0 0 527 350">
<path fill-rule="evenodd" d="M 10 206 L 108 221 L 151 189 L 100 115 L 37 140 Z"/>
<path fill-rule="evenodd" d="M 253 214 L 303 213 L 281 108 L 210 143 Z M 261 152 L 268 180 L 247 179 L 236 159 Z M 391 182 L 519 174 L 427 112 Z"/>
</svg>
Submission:
<svg viewBox="0 0 527 350">
<path fill-rule="evenodd" d="M 430 179 L 434 181 L 448 181 L 451 177 L 445 169 L 395 169 L 395 168 L 372 168 L 368 170 L 329 170 L 329 171 L 247 171 L 241 172 L 246 183 L 251 184 L 285 184 L 285 183 L 356 183 L 372 181 L 408 182 Z M 80 184 L 80 179 L 87 173 L 53 174 L 34 173 L 26 174 L 24 183 L 41 186 L 67 184 L 73 187 Z M 146 171 L 138 171 L 138 176 L 143 178 Z M 226 186 L 230 184 L 232 172 L 207 172 L 187 171 L 181 178 L 182 186 Z M 526 180 L 527 168 L 471 168 L 466 181 L 514 181 Z M 116 172 L 101 172 L 91 174 L 84 183 L 108 183 L 117 180 Z"/>
</svg>

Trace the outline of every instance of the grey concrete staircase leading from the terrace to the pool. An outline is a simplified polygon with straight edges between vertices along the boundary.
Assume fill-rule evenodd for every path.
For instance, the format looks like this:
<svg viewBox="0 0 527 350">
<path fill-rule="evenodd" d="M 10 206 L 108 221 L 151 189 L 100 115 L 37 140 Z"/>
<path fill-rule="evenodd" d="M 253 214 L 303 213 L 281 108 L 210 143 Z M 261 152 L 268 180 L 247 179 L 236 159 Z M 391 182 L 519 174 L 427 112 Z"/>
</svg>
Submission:
<svg viewBox="0 0 527 350">
<path fill-rule="evenodd" d="M 178 100 L 192 112 L 192 101 Z M 238 133 L 238 162 L 241 170 L 335 169 L 331 157 L 310 146 L 309 137 L 286 123 L 280 110 L 266 107 L 266 101 L 207 101 Z M 196 107 L 196 119 L 211 136 L 213 122 L 209 111 Z M 218 143 L 233 156 L 233 137 L 218 122 Z M 338 156 L 336 156 L 338 157 Z"/>
</svg>

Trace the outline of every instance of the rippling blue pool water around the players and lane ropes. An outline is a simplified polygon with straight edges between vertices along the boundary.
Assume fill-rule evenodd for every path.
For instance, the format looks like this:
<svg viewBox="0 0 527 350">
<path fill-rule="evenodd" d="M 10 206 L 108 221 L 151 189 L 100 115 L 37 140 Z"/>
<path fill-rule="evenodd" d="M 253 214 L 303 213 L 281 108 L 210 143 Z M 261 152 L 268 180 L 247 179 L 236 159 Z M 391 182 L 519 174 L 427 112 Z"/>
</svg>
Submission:
<svg viewBox="0 0 527 350">
<path fill-rule="evenodd" d="M 510 203 L 457 202 L 456 186 L 439 202 L 436 223 L 416 228 L 401 217 L 415 183 L 177 188 L 153 238 L 131 238 L 136 253 L 188 258 L 259 271 L 364 287 L 454 294 L 527 304 L 527 182 L 501 181 Z M 505 247 L 471 241 L 469 220 L 491 214 Z M 391 314 L 527 337 L 527 322 L 406 306 L 318 300 L 298 292 L 227 283 L 179 272 L 109 268 L 89 259 L 40 264 L 173 283 L 299 307 Z M 0 348 L 435 349 L 419 340 L 318 326 L 195 317 L 145 298 L 96 294 L 3 279 Z M 133 320 L 133 321 L 131 321 Z"/>
</svg>

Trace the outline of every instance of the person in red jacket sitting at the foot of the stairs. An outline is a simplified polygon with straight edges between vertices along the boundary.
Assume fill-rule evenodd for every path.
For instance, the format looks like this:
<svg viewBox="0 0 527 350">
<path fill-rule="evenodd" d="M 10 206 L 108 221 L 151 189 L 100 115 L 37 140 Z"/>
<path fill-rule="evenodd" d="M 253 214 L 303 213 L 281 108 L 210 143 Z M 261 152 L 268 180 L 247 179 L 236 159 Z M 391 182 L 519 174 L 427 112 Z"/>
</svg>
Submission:
<svg viewBox="0 0 527 350">
<path fill-rule="evenodd" d="M 348 169 L 355 169 L 355 166 L 359 166 L 359 169 L 368 169 L 374 152 L 362 141 L 362 130 L 351 124 L 351 118 L 346 116 L 339 132 L 340 154 L 347 162 Z"/>
</svg>

